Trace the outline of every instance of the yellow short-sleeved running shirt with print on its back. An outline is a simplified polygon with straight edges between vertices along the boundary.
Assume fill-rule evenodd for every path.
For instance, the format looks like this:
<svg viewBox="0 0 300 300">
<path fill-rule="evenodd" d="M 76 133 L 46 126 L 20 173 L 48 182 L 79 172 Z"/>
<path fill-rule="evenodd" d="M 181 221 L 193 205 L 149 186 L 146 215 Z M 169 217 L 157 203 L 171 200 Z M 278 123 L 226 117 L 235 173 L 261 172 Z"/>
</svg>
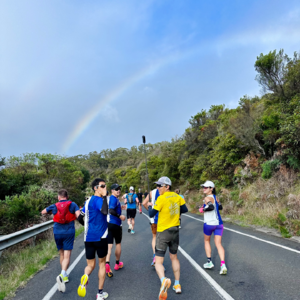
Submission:
<svg viewBox="0 0 300 300">
<path fill-rule="evenodd" d="M 153 209 L 159 211 L 157 231 L 163 232 L 168 228 L 179 226 L 180 206 L 184 199 L 173 192 L 165 192 L 159 196 Z"/>
</svg>

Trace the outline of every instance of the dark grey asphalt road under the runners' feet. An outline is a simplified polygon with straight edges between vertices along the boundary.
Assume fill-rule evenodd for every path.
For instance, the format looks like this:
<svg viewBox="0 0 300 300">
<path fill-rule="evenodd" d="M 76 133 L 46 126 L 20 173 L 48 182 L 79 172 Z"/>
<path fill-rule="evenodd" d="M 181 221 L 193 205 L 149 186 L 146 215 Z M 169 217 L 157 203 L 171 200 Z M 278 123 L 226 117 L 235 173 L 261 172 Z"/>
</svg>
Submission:
<svg viewBox="0 0 300 300">
<path fill-rule="evenodd" d="M 182 216 L 178 253 L 182 294 L 176 295 L 169 289 L 168 299 L 300 299 L 300 244 L 226 223 L 223 246 L 226 251 L 228 274 L 221 276 L 220 260 L 213 242 L 212 260 L 215 268 L 208 271 L 203 269 L 206 255 L 201 220 L 201 217 L 192 214 Z M 137 214 L 135 232 L 135 235 L 129 234 L 127 223 L 123 222 L 121 261 L 124 268 L 119 271 L 113 270 L 114 277 L 105 280 L 104 291 L 109 293 L 110 299 L 158 298 L 160 281 L 155 269 L 150 265 L 152 234 L 145 215 Z M 78 262 L 73 264 L 70 282 L 66 284 L 64 294 L 58 292 L 55 287 L 56 276 L 61 270 L 56 258 L 37 273 L 25 288 L 18 290 L 14 299 L 82 299 L 77 295 L 77 288 L 86 266 L 85 255 L 78 259 L 83 250 L 83 235 L 80 235 L 76 239 L 70 265 L 74 261 Z M 112 266 L 114 259 L 112 255 Z M 174 275 L 168 255 L 165 267 L 166 276 L 171 278 L 173 284 Z M 85 297 L 87 300 L 96 298 L 97 273 L 98 268 L 90 276 Z"/>
</svg>

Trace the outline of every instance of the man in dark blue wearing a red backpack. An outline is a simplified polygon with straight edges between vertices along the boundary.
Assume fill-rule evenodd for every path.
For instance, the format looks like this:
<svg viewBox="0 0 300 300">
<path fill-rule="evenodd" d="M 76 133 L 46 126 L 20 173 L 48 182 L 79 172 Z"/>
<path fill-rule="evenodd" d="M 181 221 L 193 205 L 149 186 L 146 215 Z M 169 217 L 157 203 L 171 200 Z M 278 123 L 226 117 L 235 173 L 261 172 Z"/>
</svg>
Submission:
<svg viewBox="0 0 300 300">
<path fill-rule="evenodd" d="M 58 290 L 64 293 L 66 291 L 65 283 L 69 282 L 67 269 L 75 239 L 74 220 L 79 217 L 80 210 L 76 203 L 68 200 L 66 190 L 60 190 L 57 198 L 59 202 L 45 208 L 42 214 L 52 213 L 54 215 L 53 234 L 61 264 L 61 273 L 56 277 L 56 281 Z"/>
</svg>

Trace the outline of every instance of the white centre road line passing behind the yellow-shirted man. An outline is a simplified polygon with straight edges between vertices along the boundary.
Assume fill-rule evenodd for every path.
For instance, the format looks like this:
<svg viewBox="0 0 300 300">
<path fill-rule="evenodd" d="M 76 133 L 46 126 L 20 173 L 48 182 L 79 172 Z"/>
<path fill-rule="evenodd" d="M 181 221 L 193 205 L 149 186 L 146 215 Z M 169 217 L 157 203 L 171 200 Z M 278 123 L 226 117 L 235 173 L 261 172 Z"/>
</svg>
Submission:
<svg viewBox="0 0 300 300">
<path fill-rule="evenodd" d="M 149 216 L 143 213 L 149 220 Z M 200 275 L 207 281 L 212 289 L 220 296 L 223 300 L 234 300 L 212 277 L 210 277 L 193 258 L 188 255 L 180 246 L 178 247 L 179 252 L 190 262 L 190 264 L 200 273 Z"/>
</svg>

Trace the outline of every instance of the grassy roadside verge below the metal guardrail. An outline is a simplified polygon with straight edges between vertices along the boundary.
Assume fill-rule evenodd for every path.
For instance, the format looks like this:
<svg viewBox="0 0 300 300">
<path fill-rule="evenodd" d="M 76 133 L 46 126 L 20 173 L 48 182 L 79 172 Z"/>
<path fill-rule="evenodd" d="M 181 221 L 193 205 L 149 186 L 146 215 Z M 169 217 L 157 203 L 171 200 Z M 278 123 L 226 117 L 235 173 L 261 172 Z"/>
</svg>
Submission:
<svg viewBox="0 0 300 300">
<path fill-rule="evenodd" d="M 83 231 L 83 226 L 76 228 L 75 237 Z M 48 239 L 38 241 L 35 247 L 5 251 L 0 258 L 0 300 L 11 299 L 19 287 L 24 287 L 36 272 L 45 268 L 57 255 L 52 233 Z"/>
</svg>

